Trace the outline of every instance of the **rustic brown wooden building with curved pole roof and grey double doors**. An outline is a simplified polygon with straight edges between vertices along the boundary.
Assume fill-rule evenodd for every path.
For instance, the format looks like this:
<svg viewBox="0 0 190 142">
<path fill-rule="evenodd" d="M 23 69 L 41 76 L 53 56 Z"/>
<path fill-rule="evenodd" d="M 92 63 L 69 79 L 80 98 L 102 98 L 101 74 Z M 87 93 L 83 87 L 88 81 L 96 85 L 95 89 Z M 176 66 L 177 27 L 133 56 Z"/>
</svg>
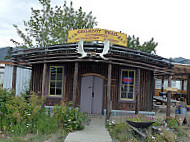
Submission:
<svg viewBox="0 0 190 142">
<path fill-rule="evenodd" d="M 154 75 L 171 72 L 171 63 L 157 55 L 112 45 L 101 58 L 102 43 L 63 44 L 16 51 L 15 66 L 32 68 L 31 91 L 45 96 L 46 105 L 72 101 L 82 111 L 152 110 Z"/>
</svg>

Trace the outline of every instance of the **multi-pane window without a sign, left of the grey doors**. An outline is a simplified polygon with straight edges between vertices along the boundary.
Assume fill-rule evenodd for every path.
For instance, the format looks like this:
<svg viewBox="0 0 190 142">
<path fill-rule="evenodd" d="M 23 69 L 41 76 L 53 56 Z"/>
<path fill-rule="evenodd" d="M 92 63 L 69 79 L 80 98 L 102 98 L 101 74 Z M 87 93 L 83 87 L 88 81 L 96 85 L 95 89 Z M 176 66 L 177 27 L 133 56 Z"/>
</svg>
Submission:
<svg viewBox="0 0 190 142">
<path fill-rule="evenodd" d="M 61 97 L 63 95 L 63 66 L 50 66 L 49 96 Z"/>
</svg>

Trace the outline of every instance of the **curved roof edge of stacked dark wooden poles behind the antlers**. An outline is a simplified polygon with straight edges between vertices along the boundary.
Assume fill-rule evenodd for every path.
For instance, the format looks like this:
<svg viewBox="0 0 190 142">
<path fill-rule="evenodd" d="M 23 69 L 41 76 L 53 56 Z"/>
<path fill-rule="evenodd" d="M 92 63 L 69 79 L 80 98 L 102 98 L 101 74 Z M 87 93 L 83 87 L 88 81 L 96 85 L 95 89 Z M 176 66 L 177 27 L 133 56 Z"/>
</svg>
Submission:
<svg viewBox="0 0 190 142">
<path fill-rule="evenodd" d="M 55 62 L 104 62 L 163 74 L 170 74 L 172 67 L 169 60 L 163 57 L 115 45 L 110 46 L 108 54 L 105 55 L 107 60 L 104 60 L 96 54 L 103 51 L 104 44 L 102 43 L 84 43 L 84 50 L 88 56 L 80 58 L 81 54 L 77 53 L 77 46 L 78 44 L 63 44 L 18 50 L 13 52 L 11 59 L 15 64 L 25 66 Z"/>
</svg>

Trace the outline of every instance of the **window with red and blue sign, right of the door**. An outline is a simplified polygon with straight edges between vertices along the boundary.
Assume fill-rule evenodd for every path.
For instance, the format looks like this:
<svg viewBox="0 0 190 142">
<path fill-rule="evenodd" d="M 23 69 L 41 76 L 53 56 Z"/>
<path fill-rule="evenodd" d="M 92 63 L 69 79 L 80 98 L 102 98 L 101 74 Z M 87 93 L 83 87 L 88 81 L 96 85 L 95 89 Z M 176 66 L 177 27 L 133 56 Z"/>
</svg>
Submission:
<svg viewBox="0 0 190 142">
<path fill-rule="evenodd" d="M 133 101 L 135 92 L 135 70 L 121 70 L 120 100 Z"/>
</svg>

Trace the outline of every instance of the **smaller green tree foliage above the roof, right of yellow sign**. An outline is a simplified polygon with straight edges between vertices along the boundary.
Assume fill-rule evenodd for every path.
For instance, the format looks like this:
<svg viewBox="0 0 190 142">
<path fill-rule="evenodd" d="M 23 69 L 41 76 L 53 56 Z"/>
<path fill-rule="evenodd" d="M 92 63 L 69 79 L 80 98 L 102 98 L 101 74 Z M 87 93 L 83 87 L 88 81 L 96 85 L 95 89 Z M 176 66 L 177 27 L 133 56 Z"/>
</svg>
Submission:
<svg viewBox="0 0 190 142">
<path fill-rule="evenodd" d="M 156 53 L 156 46 L 158 45 L 157 42 L 154 41 L 154 38 L 152 38 L 150 41 L 144 42 L 143 44 L 140 44 L 139 37 L 128 36 L 127 37 L 127 45 L 129 48 L 133 48 L 136 50 L 140 50 L 143 52 L 148 53 Z"/>
</svg>

